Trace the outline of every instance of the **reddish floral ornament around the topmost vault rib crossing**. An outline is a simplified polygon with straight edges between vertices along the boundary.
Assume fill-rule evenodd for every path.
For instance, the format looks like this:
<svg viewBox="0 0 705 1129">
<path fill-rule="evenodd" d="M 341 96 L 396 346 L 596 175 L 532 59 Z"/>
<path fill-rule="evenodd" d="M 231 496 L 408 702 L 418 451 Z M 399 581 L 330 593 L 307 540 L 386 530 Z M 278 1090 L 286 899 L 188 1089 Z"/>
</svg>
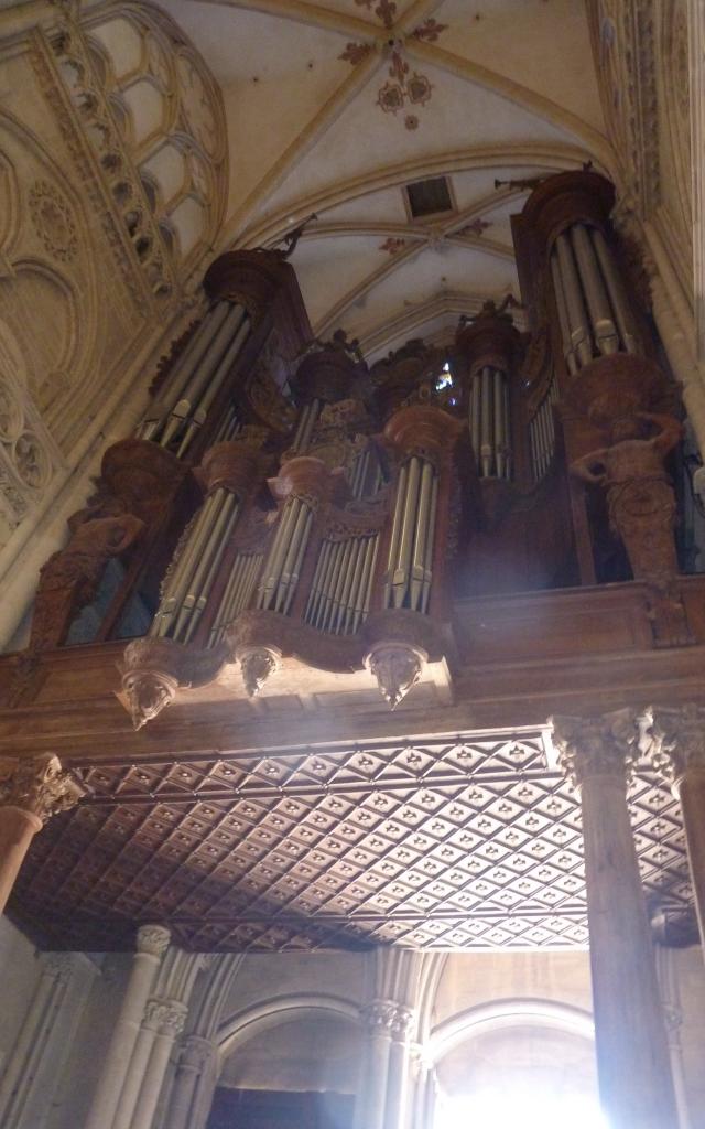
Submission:
<svg viewBox="0 0 705 1129">
<path fill-rule="evenodd" d="M 356 0 L 356 2 L 364 3 L 364 7 L 371 7 L 371 0 L 369 3 L 365 3 L 365 0 Z M 385 27 L 391 28 L 391 19 L 396 11 L 396 5 L 380 3 L 374 10 L 385 24 Z M 439 24 L 431 17 L 425 19 L 423 24 L 420 24 L 411 33 L 409 38 L 434 43 L 446 28 L 446 24 Z M 349 43 L 345 51 L 338 58 L 356 65 L 373 50 L 370 43 Z M 377 105 L 380 110 L 386 114 L 396 114 L 399 110 L 404 110 L 407 103 L 412 106 L 425 106 L 426 102 L 431 98 L 433 87 L 425 75 L 418 71 L 411 71 L 409 64 L 404 58 L 404 40 L 397 37 L 389 38 L 384 51 L 389 60 L 389 78 L 379 88 L 377 95 Z M 415 130 L 418 125 L 418 119 L 415 114 L 407 114 L 404 119 L 404 124 L 408 130 Z"/>
</svg>

